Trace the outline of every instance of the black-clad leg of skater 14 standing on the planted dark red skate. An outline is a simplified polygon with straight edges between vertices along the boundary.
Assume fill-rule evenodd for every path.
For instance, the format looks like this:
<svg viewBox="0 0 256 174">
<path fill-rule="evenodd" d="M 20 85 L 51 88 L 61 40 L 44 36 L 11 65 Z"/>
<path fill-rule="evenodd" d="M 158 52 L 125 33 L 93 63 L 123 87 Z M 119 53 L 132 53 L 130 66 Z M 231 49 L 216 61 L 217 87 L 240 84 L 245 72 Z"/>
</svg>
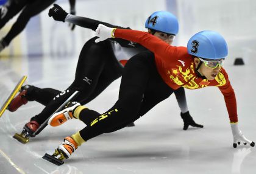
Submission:
<svg viewBox="0 0 256 174">
<path fill-rule="evenodd" d="M 31 120 L 42 124 L 74 91 L 80 91 L 79 96 L 74 100 L 83 103 L 91 94 L 99 94 L 121 75 L 121 67 L 113 66 L 116 60 L 110 43 L 108 41 L 94 43 L 94 40 L 95 38 L 89 40 L 80 52 L 75 80 L 66 89 L 65 94 L 58 95 L 51 100 L 44 110 L 32 117 Z M 100 83 L 99 80 L 101 80 Z M 101 88 L 98 87 L 99 85 Z M 95 91 L 95 89 L 99 91 Z"/>
</svg>

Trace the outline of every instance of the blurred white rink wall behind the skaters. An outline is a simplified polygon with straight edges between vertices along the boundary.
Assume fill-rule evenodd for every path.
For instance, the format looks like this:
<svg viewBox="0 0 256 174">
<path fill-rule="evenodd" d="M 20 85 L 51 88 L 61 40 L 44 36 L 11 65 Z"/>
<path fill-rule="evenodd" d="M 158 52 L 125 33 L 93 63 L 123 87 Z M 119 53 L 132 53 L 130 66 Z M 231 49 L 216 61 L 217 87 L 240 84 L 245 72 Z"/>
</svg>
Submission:
<svg viewBox="0 0 256 174">
<path fill-rule="evenodd" d="M 68 0 L 56 1 L 69 12 Z M 77 0 L 77 15 L 98 19 L 118 26 L 145 30 L 144 21 L 157 10 L 177 15 L 180 32 L 174 44 L 186 46 L 188 39 L 200 30 L 216 30 L 229 45 L 229 57 L 255 54 L 256 1 L 254 0 Z M 93 37 L 89 29 L 76 27 L 71 32 L 67 23 L 48 17 L 48 10 L 30 19 L 29 24 L 1 55 L 51 55 L 65 58 L 79 55 L 85 41 Z M 10 29 L 16 18 L 0 31 Z M 227 60 L 227 63 L 233 63 Z"/>
</svg>

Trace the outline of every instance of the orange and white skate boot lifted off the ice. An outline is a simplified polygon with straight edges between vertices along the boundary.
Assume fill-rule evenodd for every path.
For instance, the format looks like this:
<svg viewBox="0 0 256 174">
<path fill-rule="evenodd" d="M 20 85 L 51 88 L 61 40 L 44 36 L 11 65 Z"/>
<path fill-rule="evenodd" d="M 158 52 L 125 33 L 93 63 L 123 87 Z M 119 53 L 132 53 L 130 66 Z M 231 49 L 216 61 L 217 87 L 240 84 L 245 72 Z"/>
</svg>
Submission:
<svg viewBox="0 0 256 174">
<path fill-rule="evenodd" d="M 59 125 L 64 124 L 67 120 L 71 120 L 74 118 L 73 111 L 80 106 L 80 103 L 78 102 L 69 102 L 65 109 L 55 113 L 51 116 L 51 118 L 48 121 L 48 125 L 51 125 L 52 127 L 57 127 Z M 76 117 L 75 117 L 76 118 Z"/>
</svg>

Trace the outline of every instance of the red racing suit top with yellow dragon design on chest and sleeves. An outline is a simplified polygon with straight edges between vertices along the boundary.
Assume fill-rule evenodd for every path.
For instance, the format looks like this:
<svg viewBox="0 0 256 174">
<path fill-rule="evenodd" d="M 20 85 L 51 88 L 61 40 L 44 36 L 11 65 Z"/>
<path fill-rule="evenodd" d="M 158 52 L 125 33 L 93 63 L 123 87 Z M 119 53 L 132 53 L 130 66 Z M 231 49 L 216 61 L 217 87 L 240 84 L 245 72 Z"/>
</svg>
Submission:
<svg viewBox="0 0 256 174">
<path fill-rule="evenodd" d="M 224 96 L 230 122 L 238 122 L 235 92 L 224 68 L 221 68 L 214 80 L 203 79 L 196 75 L 194 60 L 188 54 L 187 47 L 171 46 L 147 32 L 137 30 L 116 29 L 114 35 L 116 38 L 140 43 L 154 52 L 157 70 L 172 89 L 217 86 Z"/>
</svg>

